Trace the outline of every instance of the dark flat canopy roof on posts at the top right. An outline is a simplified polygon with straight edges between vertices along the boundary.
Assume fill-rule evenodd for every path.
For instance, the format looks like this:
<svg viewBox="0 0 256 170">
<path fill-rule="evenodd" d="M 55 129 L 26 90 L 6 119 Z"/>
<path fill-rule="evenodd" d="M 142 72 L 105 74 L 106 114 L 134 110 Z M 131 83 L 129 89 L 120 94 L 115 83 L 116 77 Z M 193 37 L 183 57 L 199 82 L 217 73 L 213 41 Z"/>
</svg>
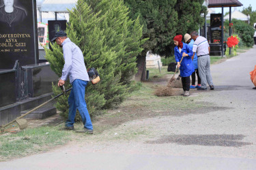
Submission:
<svg viewBox="0 0 256 170">
<path fill-rule="evenodd" d="M 208 0 L 208 7 L 240 7 L 238 0 Z"/>
</svg>

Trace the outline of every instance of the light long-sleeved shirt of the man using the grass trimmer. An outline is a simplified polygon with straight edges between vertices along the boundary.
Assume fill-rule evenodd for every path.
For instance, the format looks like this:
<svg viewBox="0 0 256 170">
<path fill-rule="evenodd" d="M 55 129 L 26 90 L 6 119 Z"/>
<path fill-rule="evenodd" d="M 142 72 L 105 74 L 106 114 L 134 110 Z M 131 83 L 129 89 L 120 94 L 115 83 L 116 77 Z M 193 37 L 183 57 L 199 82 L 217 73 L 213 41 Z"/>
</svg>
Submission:
<svg viewBox="0 0 256 170">
<path fill-rule="evenodd" d="M 76 79 L 89 81 L 89 75 L 85 67 L 83 52 L 69 38 L 61 44 L 63 47 L 64 67 L 62 69 L 61 80 L 67 80 L 68 75 L 70 83 Z"/>
</svg>

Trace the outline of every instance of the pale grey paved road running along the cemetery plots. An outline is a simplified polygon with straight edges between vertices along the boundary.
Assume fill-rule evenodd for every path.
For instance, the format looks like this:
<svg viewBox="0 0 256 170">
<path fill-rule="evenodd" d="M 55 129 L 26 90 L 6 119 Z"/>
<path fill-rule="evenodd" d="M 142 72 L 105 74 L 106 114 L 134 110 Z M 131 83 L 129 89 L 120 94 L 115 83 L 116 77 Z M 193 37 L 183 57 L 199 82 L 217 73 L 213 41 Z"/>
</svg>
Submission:
<svg viewBox="0 0 256 170">
<path fill-rule="evenodd" d="M 194 94 L 212 103 L 213 112 L 134 120 L 0 169 L 256 169 L 254 65 L 256 46 L 212 65 L 216 89 Z M 134 132 L 141 135 L 132 138 Z"/>
</svg>

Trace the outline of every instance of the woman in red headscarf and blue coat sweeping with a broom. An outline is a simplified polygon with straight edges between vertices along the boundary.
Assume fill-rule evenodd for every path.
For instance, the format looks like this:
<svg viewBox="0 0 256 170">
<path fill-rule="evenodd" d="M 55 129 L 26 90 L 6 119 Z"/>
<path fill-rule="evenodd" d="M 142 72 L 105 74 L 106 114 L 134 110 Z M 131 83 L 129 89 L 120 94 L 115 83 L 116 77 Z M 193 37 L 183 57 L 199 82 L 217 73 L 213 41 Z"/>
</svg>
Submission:
<svg viewBox="0 0 256 170">
<path fill-rule="evenodd" d="M 175 44 L 175 61 L 177 62 L 177 67 L 180 67 L 180 76 L 182 77 L 182 88 L 184 90 L 183 96 L 188 97 L 190 90 L 190 75 L 195 71 L 191 59 L 193 52 L 188 44 L 182 42 L 182 35 L 176 35 L 173 38 L 173 41 Z M 180 61 L 182 62 L 180 63 Z"/>
</svg>

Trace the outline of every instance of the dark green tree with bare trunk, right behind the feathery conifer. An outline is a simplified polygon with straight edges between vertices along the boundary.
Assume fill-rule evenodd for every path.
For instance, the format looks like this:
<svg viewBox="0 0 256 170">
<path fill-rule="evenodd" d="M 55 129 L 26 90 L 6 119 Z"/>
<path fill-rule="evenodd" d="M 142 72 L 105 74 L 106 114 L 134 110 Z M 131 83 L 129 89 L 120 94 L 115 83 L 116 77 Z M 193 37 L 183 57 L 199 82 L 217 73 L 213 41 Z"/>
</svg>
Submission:
<svg viewBox="0 0 256 170">
<path fill-rule="evenodd" d="M 130 18 L 139 16 L 143 24 L 143 52 L 137 57 L 137 80 L 145 80 L 145 56 L 147 51 L 166 55 L 177 27 L 177 12 L 174 6 L 177 0 L 124 0 L 130 8 Z"/>
</svg>

